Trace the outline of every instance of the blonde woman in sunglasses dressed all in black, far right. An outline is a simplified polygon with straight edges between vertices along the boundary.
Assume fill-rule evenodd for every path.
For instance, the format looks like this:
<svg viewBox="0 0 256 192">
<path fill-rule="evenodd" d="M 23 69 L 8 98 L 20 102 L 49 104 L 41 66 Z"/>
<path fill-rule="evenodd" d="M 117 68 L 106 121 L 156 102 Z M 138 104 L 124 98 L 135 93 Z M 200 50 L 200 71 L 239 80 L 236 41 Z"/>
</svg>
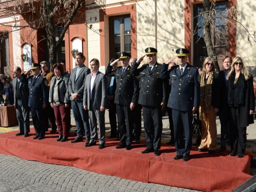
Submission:
<svg viewBox="0 0 256 192">
<path fill-rule="evenodd" d="M 242 58 L 234 58 L 227 76 L 227 96 L 230 122 L 230 156 L 244 156 L 246 127 L 254 123 L 253 77 L 244 67 Z"/>
</svg>

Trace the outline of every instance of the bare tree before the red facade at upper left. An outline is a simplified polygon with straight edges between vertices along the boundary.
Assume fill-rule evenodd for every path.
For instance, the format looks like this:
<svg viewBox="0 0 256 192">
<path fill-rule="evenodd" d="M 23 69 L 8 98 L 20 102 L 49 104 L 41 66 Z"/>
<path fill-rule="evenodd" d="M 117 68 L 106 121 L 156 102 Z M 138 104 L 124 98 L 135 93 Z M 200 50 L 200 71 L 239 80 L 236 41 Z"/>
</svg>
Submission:
<svg viewBox="0 0 256 192">
<path fill-rule="evenodd" d="M 57 62 L 57 47 L 62 42 L 70 24 L 81 23 L 81 20 L 86 24 L 85 12 L 81 12 L 80 16 L 76 14 L 83 6 L 95 3 L 93 0 L 11 0 L 0 4 L 0 16 L 13 17 L 15 19 L 15 24 L 12 25 L 15 27 L 14 30 L 44 29 L 45 36 L 42 40 L 47 42 L 50 66 L 53 66 Z M 23 16 L 27 22 L 26 25 L 22 26 L 16 21 L 15 15 L 17 14 Z M 2 23 L 1 25 L 8 26 Z M 62 26 L 60 34 L 56 34 L 56 26 Z M 92 26 L 90 28 L 92 29 Z"/>
</svg>

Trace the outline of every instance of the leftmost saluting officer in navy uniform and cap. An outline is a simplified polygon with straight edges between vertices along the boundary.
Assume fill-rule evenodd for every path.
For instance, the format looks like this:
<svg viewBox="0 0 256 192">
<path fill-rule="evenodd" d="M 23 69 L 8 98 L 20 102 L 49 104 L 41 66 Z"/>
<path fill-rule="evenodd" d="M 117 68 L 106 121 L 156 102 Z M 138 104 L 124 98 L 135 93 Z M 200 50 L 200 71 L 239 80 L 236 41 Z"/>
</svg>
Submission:
<svg viewBox="0 0 256 192">
<path fill-rule="evenodd" d="M 48 103 L 47 95 L 47 80 L 43 78 L 40 74 L 40 64 L 32 63 L 31 70 L 28 70 L 25 75 L 30 74 L 32 71 L 32 76 L 28 77 L 28 87 L 29 87 L 29 99 L 28 106 L 31 110 L 32 121 L 36 131 L 36 136 L 33 139 L 44 139 L 45 128 L 44 128 L 44 114 L 43 109 L 46 108 Z"/>
</svg>

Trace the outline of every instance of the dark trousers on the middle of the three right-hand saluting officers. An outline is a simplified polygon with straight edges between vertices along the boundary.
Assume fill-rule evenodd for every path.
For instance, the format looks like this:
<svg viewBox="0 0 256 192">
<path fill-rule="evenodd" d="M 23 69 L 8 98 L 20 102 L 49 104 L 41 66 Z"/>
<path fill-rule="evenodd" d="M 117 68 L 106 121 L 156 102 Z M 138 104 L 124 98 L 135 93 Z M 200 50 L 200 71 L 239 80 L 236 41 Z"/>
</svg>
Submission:
<svg viewBox="0 0 256 192">
<path fill-rule="evenodd" d="M 158 150 L 160 149 L 163 129 L 161 106 L 142 106 L 142 109 L 147 149 Z"/>
</svg>

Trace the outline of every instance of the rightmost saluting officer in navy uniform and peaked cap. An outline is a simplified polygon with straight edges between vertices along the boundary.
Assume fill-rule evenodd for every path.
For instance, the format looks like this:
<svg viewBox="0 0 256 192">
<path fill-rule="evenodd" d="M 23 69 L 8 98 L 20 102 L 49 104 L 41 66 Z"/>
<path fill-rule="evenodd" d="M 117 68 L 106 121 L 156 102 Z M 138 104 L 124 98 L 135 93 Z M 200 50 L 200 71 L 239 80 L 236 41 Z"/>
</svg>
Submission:
<svg viewBox="0 0 256 192">
<path fill-rule="evenodd" d="M 188 161 L 192 147 L 192 114 L 199 107 L 200 85 L 197 68 L 186 62 L 189 51 L 179 48 L 176 50 L 176 53 L 179 66 L 172 67 L 170 72 L 167 73 L 172 86 L 168 107 L 172 109 L 174 140 L 177 153 L 173 159 L 178 160 L 182 158 L 183 161 Z M 175 57 L 168 62 L 174 59 Z M 165 65 L 166 69 L 168 67 L 167 64 Z M 181 128 L 182 125 L 183 129 Z"/>
</svg>

